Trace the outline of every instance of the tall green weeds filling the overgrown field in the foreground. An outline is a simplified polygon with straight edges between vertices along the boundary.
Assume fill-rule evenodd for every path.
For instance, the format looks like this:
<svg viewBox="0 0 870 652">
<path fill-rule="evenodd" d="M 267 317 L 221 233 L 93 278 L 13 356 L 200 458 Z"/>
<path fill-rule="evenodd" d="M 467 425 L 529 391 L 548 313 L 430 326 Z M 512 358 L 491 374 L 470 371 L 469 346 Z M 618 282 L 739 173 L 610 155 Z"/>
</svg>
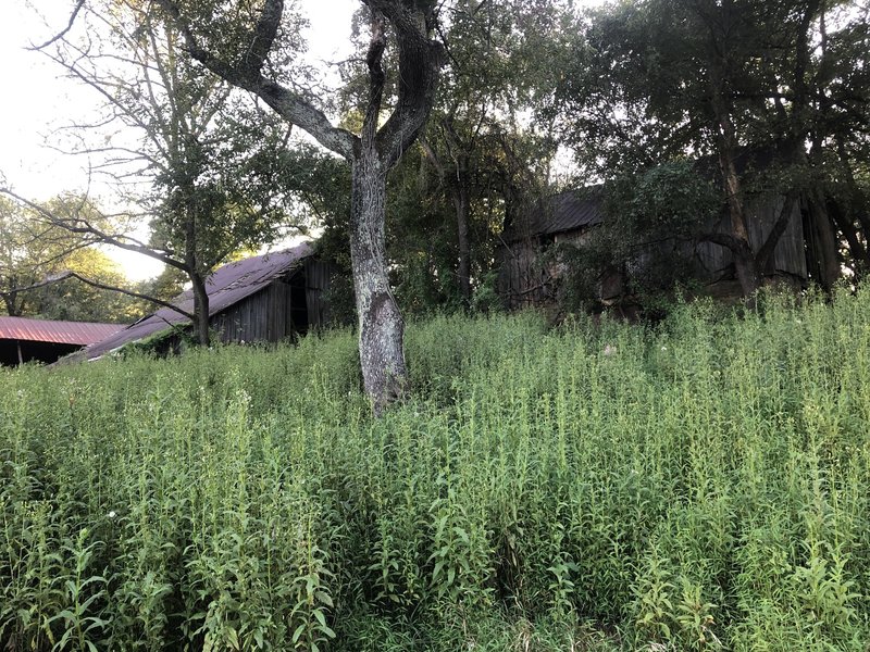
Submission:
<svg viewBox="0 0 870 652">
<path fill-rule="evenodd" d="M 870 644 L 870 291 L 0 373 L 0 649 Z"/>
</svg>

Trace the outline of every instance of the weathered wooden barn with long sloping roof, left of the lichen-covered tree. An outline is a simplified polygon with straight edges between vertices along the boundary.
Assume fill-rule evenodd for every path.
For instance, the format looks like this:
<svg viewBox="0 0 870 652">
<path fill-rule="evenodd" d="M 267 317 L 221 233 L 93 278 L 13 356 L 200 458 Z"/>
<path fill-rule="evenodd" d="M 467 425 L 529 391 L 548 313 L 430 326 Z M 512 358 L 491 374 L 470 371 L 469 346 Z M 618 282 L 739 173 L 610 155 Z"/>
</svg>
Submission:
<svg viewBox="0 0 870 652">
<path fill-rule="evenodd" d="M 308 243 L 224 265 L 206 284 L 209 324 L 224 342 L 277 342 L 304 334 L 330 318 L 325 294 L 331 274 L 331 265 L 318 260 Z M 173 304 L 192 312 L 192 292 L 183 292 Z M 80 358 L 96 360 L 172 326 L 188 325 L 187 317 L 164 308 L 87 347 Z"/>
</svg>

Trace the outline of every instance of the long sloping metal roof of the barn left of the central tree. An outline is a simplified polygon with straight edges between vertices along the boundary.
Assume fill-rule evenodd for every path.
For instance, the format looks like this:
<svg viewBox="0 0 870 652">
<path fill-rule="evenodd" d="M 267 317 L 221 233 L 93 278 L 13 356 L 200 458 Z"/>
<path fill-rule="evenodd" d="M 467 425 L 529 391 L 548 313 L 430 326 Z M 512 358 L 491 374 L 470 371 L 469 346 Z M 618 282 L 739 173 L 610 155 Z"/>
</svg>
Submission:
<svg viewBox="0 0 870 652">
<path fill-rule="evenodd" d="M 293 249 L 252 256 L 215 269 L 206 281 L 206 289 L 209 292 L 209 317 L 263 289 L 276 277 L 289 272 L 299 261 L 312 253 L 311 246 L 303 242 Z M 192 291 L 187 290 L 178 294 L 172 303 L 186 312 L 192 313 Z M 92 360 L 126 343 L 149 337 L 173 324 L 186 324 L 188 322 L 189 319 L 184 315 L 169 308 L 163 308 L 111 337 L 88 347 L 82 353 L 88 360 Z"/>
</svg>

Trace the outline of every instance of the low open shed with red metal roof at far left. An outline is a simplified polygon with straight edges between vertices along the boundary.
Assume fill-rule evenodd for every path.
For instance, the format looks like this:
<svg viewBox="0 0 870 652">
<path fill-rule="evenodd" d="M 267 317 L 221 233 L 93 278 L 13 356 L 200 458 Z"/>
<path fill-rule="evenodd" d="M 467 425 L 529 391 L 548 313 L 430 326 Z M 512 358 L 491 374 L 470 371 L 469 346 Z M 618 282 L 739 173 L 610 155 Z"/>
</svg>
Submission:
<svg viewBox="0 0 870 652">
<path fill-rule="evenodd" d="M 122 324 L 0 317 L 0 364 L 50 364 L 122 328 Z"/>
</svg>

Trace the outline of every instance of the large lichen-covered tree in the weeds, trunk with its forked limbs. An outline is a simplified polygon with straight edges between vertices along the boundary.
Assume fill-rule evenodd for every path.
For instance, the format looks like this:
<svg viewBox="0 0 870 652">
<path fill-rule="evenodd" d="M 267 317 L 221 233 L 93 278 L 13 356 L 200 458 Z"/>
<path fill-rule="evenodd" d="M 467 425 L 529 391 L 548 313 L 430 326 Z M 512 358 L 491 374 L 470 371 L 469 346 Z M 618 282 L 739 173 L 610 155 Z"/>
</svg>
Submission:
<svg viewBox="0 0 870 652">
<path fill-rule="evenodd" d="M 156 0 L 156 3 L 179 26 L 195 59 L 231 84 L 256 93 L 288 123 L 301 127 L 322 146 L 350 162 L 350 253 L 357 292 L 360 362 L 365 392 L 375 411 L 382 412 L 389 402 L 406 393 L 408 384 L 402 351 L 405 325 L 389 288 L 384 251 L 386 173 L 417 139 L 435 102 L 445 59 L 444 46 L 428 38 L 435 3 L 364 1 L 371 21 L 371 39 L 365 53 L 369 101 L 359 137 L 333 126 L 321 109 L 298 93 L 295 85 L 283 85 L 263 76 L 270 50 L 281 32 L 284 0 L 260 3 L 259 15 L 247 34 L 249 47 L 238 61 L 223 60 L 208 47 L 203 48 L 179 2 Z M 383 55 L 388 36 L 397 46 L 398 71 L 393 111 L 384 121 Z M 266 67 L 271 75 L 271 66 Z"/>
</svg>

